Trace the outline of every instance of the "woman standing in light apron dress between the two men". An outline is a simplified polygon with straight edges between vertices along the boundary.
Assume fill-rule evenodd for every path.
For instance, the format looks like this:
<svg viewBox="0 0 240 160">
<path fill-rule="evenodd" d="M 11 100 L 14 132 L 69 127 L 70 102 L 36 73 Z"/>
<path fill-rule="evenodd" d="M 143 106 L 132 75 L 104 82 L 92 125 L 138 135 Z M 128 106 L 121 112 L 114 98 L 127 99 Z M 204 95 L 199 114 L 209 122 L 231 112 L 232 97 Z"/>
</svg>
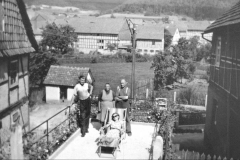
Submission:
<svg viewBox="0 0 240 160">
<path fill-rule="evenodd" d="M 115 95 L 114 92 L 111 90 L 110 84 L 105 84 L 105 89 L 102 90 L 98 96 L 98 108 L 101 112 L 100 115 L 100 121 L 103 125 L 105 115 L 107 113 L 108 108 L 114 108 L 115 107 Z"/>
</svg>

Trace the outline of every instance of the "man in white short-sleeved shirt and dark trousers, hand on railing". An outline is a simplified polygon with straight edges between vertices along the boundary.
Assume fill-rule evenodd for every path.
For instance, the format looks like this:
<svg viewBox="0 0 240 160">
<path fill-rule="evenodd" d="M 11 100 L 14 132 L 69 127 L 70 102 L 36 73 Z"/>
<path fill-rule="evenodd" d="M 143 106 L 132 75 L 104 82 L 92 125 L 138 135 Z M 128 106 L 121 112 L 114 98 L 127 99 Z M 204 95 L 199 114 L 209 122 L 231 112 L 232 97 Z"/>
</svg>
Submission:
<svg viewBox="0 0 240 160">
<path fill-rule="evenodd" d="M 84 76 L 79 76 L 79 83 L 74 87 L 71 102 L 72 104 L 77 103 L 77 123 L 81 129 L 82 137 L 88 133 L 92 91 L 93 86 L 86 83 L 86 78 Z"/>
</svg>

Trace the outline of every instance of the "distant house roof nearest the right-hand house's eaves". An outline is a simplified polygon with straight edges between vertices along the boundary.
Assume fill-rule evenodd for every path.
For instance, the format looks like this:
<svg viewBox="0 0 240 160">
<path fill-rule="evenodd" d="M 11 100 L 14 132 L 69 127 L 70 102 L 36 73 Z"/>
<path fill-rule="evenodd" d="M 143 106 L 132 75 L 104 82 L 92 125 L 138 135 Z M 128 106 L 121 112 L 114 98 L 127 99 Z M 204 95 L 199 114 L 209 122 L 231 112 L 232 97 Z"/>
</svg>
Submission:
<svg viewBox="0 0 240 160">
<path fill-rule="evenodd" d="M 204 31 L 210 24 L 209 21 L 189 21 L 187 27 L 188 30 Z"/>
</svg>

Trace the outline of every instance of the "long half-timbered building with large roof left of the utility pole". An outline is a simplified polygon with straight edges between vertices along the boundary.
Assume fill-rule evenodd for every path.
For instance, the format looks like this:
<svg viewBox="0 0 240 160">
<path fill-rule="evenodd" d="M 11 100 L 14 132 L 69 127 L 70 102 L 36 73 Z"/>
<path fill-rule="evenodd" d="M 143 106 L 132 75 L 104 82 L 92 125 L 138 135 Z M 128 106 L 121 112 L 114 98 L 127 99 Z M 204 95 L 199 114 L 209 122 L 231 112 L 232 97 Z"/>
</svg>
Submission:
<svg viewBox="0 0 240 160">
<path fill-rule="evenodd" d="M 98 51 L 109 53 L 108 45 L 115 45 L 115 49 L 126 48 L 131 45 L 131 32 L 125 19 L 81 17 L 69 18 L 56 22 L 58 25 L 69 24 L 78 34 L 78 42 L 74 47 L 79 52 L 89 53 Z"/>
</svg>

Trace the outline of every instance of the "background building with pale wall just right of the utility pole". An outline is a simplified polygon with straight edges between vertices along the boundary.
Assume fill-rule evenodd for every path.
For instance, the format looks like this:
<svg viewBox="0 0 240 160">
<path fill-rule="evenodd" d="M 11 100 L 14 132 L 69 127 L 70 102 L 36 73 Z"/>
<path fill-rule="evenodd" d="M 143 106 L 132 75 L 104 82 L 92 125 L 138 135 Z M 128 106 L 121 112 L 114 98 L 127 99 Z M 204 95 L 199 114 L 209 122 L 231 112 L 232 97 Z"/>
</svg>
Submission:
<svg viewBox="0 0 240 160">
<path fill-rule="evenodd" d="M 136 49 L 140 54 L 154 55 L 164 50 L 164 28 L 161 25 L 137 27 Z"/>
</svg>

